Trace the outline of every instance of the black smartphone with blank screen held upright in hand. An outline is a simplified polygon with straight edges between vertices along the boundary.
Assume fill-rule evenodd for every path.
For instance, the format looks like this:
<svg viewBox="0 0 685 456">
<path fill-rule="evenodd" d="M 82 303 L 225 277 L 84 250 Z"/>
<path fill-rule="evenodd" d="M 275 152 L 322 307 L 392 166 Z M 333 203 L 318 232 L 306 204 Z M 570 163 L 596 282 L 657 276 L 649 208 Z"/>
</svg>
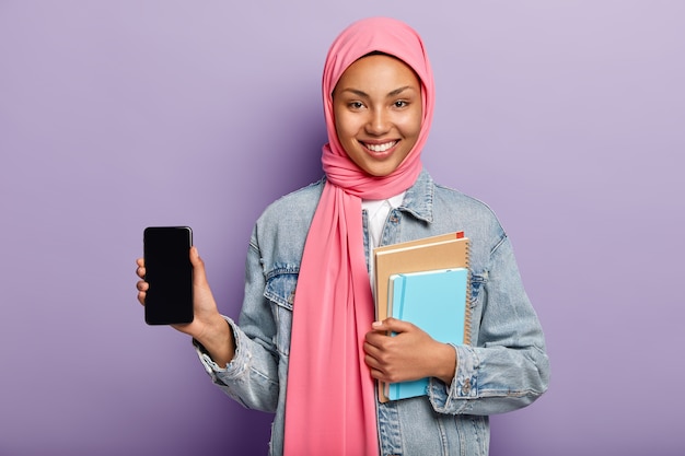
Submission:
<svg viewBox="0 0 685 456">
<path fill-rule="evenodd" d="M 143 232 L 146 323 L 173 325 L 193 321 L 193 230 L 149 226 Z"/>
</svg>

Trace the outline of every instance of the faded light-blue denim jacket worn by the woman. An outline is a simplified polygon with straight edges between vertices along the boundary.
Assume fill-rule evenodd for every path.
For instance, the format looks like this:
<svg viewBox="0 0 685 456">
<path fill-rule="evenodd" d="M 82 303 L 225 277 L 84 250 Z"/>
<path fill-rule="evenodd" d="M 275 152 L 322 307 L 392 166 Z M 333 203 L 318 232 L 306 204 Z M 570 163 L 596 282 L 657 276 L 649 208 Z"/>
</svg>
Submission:
<svg viewBox="0 0 685 456">
<path fill-rule="evenodd" d="M 280 198 L 256 222 L 239 325 L 227 317 L 235 335 L 234 359 L 220 369 L 197 347 L 223 391 L 247 408 L 276 413 L 270 455 L 281 455 L 283 448 L 293 296 L 324 182 Z M 422 171 L 403 203 L 391 210 L 381 244 L 453 231 L 464 231 L 472 242 L 473 346 L 455 347 L 457 367 L 450 385 L 431 378 L 428 396 L 378 402 L 381 455 L 487 455 L 488 416 L 525 407 L 547 389 L 543 331 L 509 238 L 487 206 L 434 184 Z M 368 250 L 367 241 L 364 246 Z"/>
</svg>

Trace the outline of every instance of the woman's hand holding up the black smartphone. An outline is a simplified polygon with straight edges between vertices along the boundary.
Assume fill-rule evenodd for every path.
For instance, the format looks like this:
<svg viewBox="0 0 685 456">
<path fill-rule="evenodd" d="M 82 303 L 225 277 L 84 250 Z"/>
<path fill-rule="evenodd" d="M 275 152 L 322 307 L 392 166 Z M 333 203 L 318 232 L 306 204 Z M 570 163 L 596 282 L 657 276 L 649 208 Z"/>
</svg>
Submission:
<svg viewBox="0 0 685 456">
<path fill-rule="evenodd" d="M 219 366 L 224 367 L 233 359 L 235 352 L 233 331 L 231 326 L 219 313 L 217 302 L 207 282 L 205 261 L 200 258 L 197 247 L 190 247 L 189 255 L 190 264 L 193 265 L 194 319 L 191 323 L 171 326 L 200 342 L 209 352 L 212 360 Z M 138 258 L 136 264 L 138 265 L 136 274 L 140 279 L 136 283 L 138 301 L 140 304 L 146 305 L 146 295 L 150 285 L 144 281 L 144 259 Z"/>
</svg>

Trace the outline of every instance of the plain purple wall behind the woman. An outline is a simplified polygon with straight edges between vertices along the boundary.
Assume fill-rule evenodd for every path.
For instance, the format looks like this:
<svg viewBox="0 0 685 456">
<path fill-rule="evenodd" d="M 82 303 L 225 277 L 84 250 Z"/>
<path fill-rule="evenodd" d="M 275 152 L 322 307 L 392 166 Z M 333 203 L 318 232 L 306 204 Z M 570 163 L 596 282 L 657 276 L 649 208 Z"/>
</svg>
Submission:
<svg viewBox="0 0 685 456">
<path fill-rule="evenodd" d="M 491 454 L 684 454 L 678 0 L 0 1 L 0 454 L 266 454 L 133 260 L 191 225 L 237 316 L 254 220 L 320 176 L 327 47 L 376 14 L 425 37 L 425 163 L 499 214 L 546 330 Z"/>
</svg>

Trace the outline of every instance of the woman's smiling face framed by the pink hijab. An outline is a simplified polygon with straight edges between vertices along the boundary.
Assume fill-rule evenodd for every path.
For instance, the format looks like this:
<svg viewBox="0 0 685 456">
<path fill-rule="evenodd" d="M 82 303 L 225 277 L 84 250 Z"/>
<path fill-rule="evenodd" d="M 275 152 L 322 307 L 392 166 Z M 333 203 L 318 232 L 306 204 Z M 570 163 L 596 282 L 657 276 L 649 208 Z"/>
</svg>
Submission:
<svg viewBox="0 0 685 456">
<path fill-rule="evenodd" d="M 333 92 L 340 144 L 372 176 L 387 176 L 409 154 L 421 130 L 421 84 L 402 60 L 385 55 L 350 65 Z"/>
</svg>

